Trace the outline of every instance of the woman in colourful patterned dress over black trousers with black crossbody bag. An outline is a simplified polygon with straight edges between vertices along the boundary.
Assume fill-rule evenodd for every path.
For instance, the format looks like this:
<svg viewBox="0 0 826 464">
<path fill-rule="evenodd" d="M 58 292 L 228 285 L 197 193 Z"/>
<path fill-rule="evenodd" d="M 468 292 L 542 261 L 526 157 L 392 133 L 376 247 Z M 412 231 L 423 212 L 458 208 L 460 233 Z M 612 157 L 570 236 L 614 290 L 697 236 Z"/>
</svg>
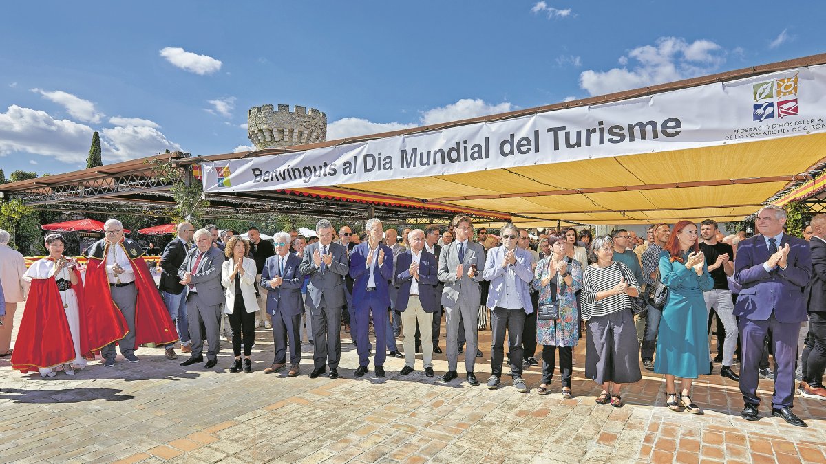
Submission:
<svg viewBox="0 0 826 464">
<path fill-rule="evenodd" d="M 545 239 L 542 239 L 545 240 Z M 540 240 L 540 247 L 543 244 Z M 579 309 L 577 291 L 582 287 L 582 266 L 565 253 L 565 234 L 548 235 L 551 245 L 548 258 L 539 260 L 534 270 L 534 288 L 539 290 L 539 305 L 558 301 L 559 318 L 536 321 L 536 343 L 542 345 L 542 384 L 539 395 L 548 393 L 556 369 L 559 350 L 559 374 L 562 376 L 563 397 L 572 398 L 571 372 L 573 347 L 579 343 Z M 555 303 L 553 303 L 555 304 Z M 539 315 L 539 311 L 537 312 Z"/>
</svg>

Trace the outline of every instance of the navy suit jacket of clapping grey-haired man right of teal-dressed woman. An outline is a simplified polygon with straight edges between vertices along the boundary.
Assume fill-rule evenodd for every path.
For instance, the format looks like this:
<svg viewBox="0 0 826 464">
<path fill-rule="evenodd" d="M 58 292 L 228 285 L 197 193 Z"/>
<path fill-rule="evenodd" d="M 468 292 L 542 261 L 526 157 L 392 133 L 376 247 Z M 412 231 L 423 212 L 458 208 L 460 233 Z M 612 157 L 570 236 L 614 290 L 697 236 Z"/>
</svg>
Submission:
<svg viewBox="0 0 826 464">
<path fill-rule="evenodd" d="M 777 248 L 789 244 L 786 269 L 780 267 L 766 272 L 763 263 L 771 257 L 766 239 L 756 235 L 740 240 L 734 258 L 734 279 L 743 286 L 734 305 L 734 315 L 749 320 L 768 320 L 771 312 L 779 322 L 793 323 L 807 320 L 803 292 L 800 287 L 809 283 L 812 272 L 809 243 L 804 239 L 783 234 Z"/>
</svg>

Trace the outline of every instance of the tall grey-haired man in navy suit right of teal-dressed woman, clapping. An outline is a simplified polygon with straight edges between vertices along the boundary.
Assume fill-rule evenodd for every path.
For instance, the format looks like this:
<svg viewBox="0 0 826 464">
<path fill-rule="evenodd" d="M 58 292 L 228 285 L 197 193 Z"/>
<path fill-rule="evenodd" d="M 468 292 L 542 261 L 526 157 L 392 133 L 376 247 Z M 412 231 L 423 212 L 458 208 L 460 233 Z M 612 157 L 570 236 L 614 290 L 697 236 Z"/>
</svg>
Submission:
<svg viewBox="0 0 826 464">
<path fill-rule="evenodd" d="M 775 391 L 771 397 L 772 415 L 798 427 L 806 427 L 791 411 L 795 388 L 795 357 L 800 323 L 806 308 L 800 287 L 811 273 L 809 244 L 804 239 L 783 233 L 786 211 L 766 206 L 757 213 L 759 235 L 741 240 L 734 259 L 734 278 L 743 286 L 734 315 L 739 316 L 743 355 L 740 391 L 746 407 L 743 419 L 757 420 L 757 368 L 763 339 L 771 334 L 774 343 Z"/>
</svg>

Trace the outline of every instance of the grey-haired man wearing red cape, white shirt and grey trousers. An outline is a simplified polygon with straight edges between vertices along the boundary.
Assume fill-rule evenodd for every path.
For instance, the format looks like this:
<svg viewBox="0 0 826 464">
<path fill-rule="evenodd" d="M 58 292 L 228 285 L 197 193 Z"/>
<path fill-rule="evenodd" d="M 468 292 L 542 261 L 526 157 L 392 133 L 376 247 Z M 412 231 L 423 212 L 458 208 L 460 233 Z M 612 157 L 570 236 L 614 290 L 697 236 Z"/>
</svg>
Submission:
<svg viewBox="0 0 826 464">
<path fill-rule="evenodd" d="M 110 219 L 103 225 L 104 238 L 90 246 L 84 287 L 90 313 L 108 314 L 115 305 L 120 310 L 129 333 L 119 340 L 121 355 L 128 362 L 138 362 L 135 349 L 144 343 L 165 346 L 178 340 L 178 333 L 154 278 L 144 261 L 144 250 L 135 240 L 124 236 L 120 220 Z M 99 308 L 98 306 L 109 306 Z M 140 320 L 135 315 L 140 313 Z M 115 365 L 115 342 L 101 349 L 104 367 Z"/>
</svg>

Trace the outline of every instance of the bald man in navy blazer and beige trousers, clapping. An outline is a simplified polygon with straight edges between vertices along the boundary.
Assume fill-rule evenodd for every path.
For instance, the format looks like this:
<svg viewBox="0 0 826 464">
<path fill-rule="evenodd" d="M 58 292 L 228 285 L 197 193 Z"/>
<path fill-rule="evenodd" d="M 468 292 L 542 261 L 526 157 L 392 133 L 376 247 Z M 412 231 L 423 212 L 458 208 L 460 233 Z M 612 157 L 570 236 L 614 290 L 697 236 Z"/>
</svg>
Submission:
<svg viewBox="0 0 826 464">
<path fill-rule="evenodd" d="M 425 340 L 430 339 L 429 323 L 433 319 L 433 314 L 439 310 L 439 265 L 433 253 L 425 250 L 425 233 L 420 229 L 412 230 L 407 243 L 410 244 L 410 249 L 396 257 L 396 268 L 393 271 L 396 285 L 399 286 L 396 308 L 401 311 L 401 320 L 405 328 L 405 367 L 401 368 L 402 376 L 413 372 L 413 328 L 416 322 L 419 322 L 421 335 Z M 432 377 L 433 348 L 428 343 L 422 348 L 425 376 Z"/>
</svg>

